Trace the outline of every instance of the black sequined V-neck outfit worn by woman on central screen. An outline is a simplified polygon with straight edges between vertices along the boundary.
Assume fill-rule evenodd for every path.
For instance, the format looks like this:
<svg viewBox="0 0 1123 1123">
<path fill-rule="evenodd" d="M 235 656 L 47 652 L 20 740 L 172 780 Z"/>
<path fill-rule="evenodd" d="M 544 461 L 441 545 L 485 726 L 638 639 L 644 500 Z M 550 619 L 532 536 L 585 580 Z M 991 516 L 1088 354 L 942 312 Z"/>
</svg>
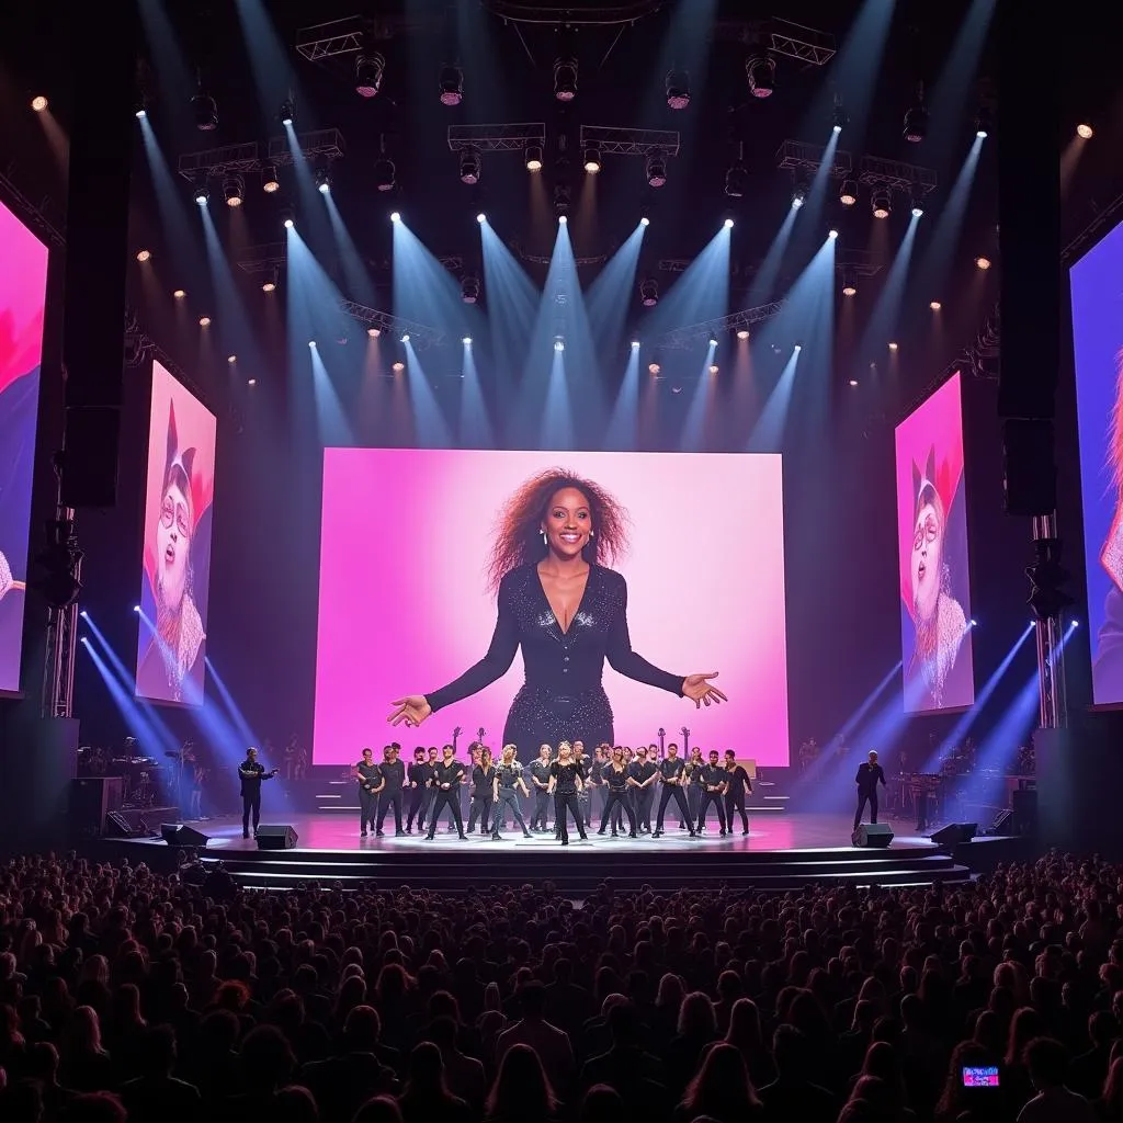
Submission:
<svg viewBox="0 0 1123 1123">
<path fill-rule="evenodd" d="M 601 685 L 604 660 L 614 670 L 682 696 L 683 676 L 652 666 L 631 648 L 628 585 L 614 569 L 594 565 L 567 631 L 550 609 L 533 565 L 512 569 L 499 587 L 499 619 L 487 654 L 459 678 L 426 695 L 436 713 L 477 694 L 506 674 L 522 648 L 527 681 L 511 703 L 503 743 L 533 755 L 539 746 L 582 740 L 615 743 L 612 706 Z"/>
</svg>

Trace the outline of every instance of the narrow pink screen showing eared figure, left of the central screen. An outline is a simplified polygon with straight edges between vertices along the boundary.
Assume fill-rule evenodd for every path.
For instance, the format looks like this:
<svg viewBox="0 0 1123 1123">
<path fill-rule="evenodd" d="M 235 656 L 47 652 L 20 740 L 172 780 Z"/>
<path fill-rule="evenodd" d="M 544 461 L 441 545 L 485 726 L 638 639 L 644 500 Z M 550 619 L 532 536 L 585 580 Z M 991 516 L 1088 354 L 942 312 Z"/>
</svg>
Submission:
<svg viewBox="0 0 1123 1123">
<path fill-rule="evenodd" d="M 214 414 L 153 363 L 137 696 L 200 705 L 207 654 Z"/>
</svg>

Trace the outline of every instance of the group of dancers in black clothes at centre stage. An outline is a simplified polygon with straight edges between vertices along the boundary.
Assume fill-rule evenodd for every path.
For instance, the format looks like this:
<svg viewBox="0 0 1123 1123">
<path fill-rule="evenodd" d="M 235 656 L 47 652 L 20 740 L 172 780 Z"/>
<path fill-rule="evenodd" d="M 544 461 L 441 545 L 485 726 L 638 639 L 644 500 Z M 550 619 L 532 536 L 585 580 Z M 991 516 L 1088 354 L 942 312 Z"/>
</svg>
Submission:
<svg viewBox="0 0 1123 1123">
<path fill-rule="evenodd" d="M 752 783 L 732 749 L 727 749 L 724 757 L 716 749 L 703 755 L 700 748 L 679 756 L 678 746 L 670 743 L 660 756 L 655 745 L 640 746 L 633 752 L 631 748 L 605 743 L 599 745 L 590 757 L 582 741 L 562 741 L 556 752 L 550 745 L 540 746 L 537 758 L 524 767 L 514 745 L 504 746 L 495 759 L 491 748 L 474 743 L 467 763 L 459 759 L 454 745 L 446 745 L 439 751 L 436 746 L 428 749 L 419 746 L 407 768 L 401 746 L 395 742 L 385 746 L 377 763 L 373 750 L 364 749 L 354 776 L 358 784 L 362 838 L 372 832 L 382 838 L 386 815 L 392 811 L 395 836 L 412 834 L 416 823 L 419 832 L 428 824 L 424 837 L 433 839 L 440 818 L 447 812 L 462 839 L 474 833 L 478 823 L 481 834 L 499 841 L 503 837 L 501 828 L 510 815 L 524 838 L 553 833 L 562 846 L 568 846 L 570 819 L 581 839 L 588 838 L 594 797 L 600 802 L 597 834 L 611 830 L 613 838 L 619 837 L 627 819 L 629 838 L 640 834 L 659 838 L 672 801 L 678 812 L 679 829 L 691 838 L 705 831 L 711 807 L 716 814 L 720 837 L 733 833 L 734 814 L 740 815 L 741 833 L 749 833 L 745 796 L 752 791 Z M 464 793 L 468 794 L 466 830 Z M 528 804 L 529 824 L 522 813 L 520 793 Z M 403 803 L 407 804 L 404 827 Z M 652 810 L 656 810 L 654 830 Z"/>
</svg>

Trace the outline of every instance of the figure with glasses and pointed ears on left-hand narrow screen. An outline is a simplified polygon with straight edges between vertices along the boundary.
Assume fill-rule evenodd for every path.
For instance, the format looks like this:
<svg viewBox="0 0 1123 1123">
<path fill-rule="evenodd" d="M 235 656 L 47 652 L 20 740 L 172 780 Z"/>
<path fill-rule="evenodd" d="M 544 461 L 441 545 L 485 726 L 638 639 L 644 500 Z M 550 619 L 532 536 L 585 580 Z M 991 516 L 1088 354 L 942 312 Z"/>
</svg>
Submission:
<svg viewBox="0 0 1123 1123">
<path fill-rule="evenodd" d="M 167 458 L 159 506 L 155 511 L 156 557 L 150 575 L 156 601 L 156 630 L 137 670 L 137 694 L 141 697 L 183 702 L 198 692 L 202 682 L 202 617 L 192 595 L 194 573 L 191 544 L 195 510 L 191 466 L 195 450 L 180 450 L 175 430 L 175 407 L 167 421 Z M 199 701 L 188 697 L 186 701 Z"/>
</svg>

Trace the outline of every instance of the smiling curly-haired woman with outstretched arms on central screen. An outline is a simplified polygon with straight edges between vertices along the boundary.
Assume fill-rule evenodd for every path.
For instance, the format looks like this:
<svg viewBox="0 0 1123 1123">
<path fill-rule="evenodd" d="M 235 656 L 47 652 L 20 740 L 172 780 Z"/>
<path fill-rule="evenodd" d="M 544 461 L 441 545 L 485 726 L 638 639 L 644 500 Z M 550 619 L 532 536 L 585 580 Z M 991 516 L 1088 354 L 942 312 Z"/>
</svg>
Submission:
<svg viewBox="0 0 1123 1123">
<path fill-rule="evenodd" d="M 428 694 L 395 699 L 389 721 L 420 725 L 430 714 L 502 677 L 522 648 L 527 679 L 506 715 L 503 743 L 532 750 L 581 738 L 612 745 L 612 707 L 601 685 L 604 660 L 696 706 L 725 695 L 718 673 L 672 675 L 631 647 L 628 586 L 600 564 L 624 551 L 627 513 L 599 484 L 558 468 L 528 480 L 508 501 L 489 565 L 499 619 L 487 654 Z"/>
</svg>

